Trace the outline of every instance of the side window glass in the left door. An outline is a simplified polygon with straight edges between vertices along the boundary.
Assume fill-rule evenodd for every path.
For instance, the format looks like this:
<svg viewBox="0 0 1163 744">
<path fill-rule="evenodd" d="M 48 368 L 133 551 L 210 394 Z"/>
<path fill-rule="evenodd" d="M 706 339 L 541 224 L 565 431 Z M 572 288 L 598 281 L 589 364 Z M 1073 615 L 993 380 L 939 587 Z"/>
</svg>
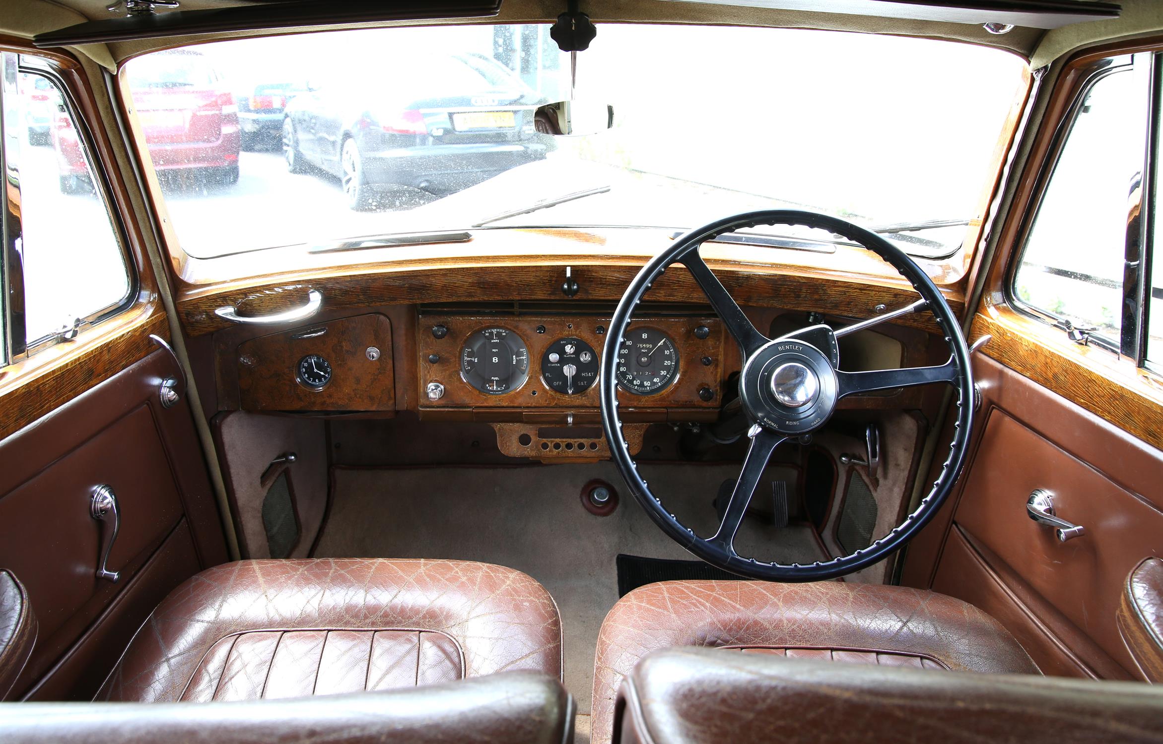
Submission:
<svg viewBox="0 0 1163 744">
<path fill-rule="evenodd" d="M 22 264 L 29 352 L 78 319 L 104 320 L 131 287 L 79 122 L 57 81 L 37 66 L 3 52 L 5 176 L 8 199 L 19 199 L 13 243 Z"/>
</svg>

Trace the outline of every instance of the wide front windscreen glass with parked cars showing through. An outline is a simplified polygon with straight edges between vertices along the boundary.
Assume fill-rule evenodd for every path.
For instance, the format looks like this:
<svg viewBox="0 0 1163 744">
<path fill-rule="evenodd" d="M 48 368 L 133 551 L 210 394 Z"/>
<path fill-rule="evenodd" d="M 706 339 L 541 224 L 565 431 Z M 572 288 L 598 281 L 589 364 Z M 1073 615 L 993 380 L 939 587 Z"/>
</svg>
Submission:
<svg viewBox="0 0 1163 744">
<path fill-rule="evenodd" d="M 477 24 L 199 44 L 123 74 L 181 249 L 270 250 L 272 270 L 361 236 L 683 230 L 759 208 L 947 257 L 983 216 L 1027 80 L 1018 57 L 944 41 L 598 31 L 576 59 L 548 26 Z M 583 99 L 608 103 L 613 127 L 550 134 L 540 107 Z"/>
</svg>

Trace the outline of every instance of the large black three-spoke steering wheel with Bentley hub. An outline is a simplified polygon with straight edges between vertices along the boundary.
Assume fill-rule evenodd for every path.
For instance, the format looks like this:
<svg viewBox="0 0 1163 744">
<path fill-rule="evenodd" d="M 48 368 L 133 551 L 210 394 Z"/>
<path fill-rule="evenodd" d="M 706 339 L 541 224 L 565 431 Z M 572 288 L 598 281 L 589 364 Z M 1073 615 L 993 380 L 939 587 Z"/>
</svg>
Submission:
<svg viewBox="0 0 1163 744">
<path fill-rule="evenodd" d="M 949 360 L 933 367 L 842 372 L 837 369 L 840 352 L 836 336 L 856 330 L 862 324 L 839 330 L 825 324 L 811 326 L 776 339 L 761 334 L 699 255 L 699 248 L 707 241 L 740 228 L 761 224 L 823 229 L 847 237 L 879 255 L 908 279 L 921 295 L 920 300 L 902 310 L 927 308 L 933 314 L 949 345 L 951 352 Z M 683 525 L 651 493 L 630 456 L 629 446 L 622 436 L 622 422 L 618 415 L 618 346 L 626 336 L 630 316 L 642 301 L 642 295 L 668 266 L 676 263 L 684 264 L 706 293 L 711 306 L 739 342 L 743 358 L 739 392 L 743 412 L 750 423 L 748 437 L 751 444 L 722 522 L 711 537 L 699 537 Z M 882 315 L 876 321 L 896 315 L 897 313 Z M 622 295 L 611 321 L 599 379 L 601 425 L 614 463 L 626 479 L 630 493 L 655 524 L 683 548 L 713 566 L 741 577 L 770 581 L 832 579 L 859 571 L 899 550 L 933 518 L 952 489 L 965 460 L 973 419 L 973 378 L 965 337 L 961 332 L 956 316 L 929 277 L 904 251 L 875 233 L 837 217 L 793 209 L 749 212 L 691 230 L 643 266 Z M 916 510 L 904 522 L 868 548 L 832 560 L 786 565 L 763 563 L 735 552 L 735 532 L 747 514 L 763 470 L 777 446 L 825 425 L 841 398 L 929 382 L 946 382 L 957 388 L 955 401 L 957 420 L 952 443 L 949 445 L 949 457 L 941 468 L 941 475 L 933 484 L 928 495 L 921 499 Z"/>
</svg>

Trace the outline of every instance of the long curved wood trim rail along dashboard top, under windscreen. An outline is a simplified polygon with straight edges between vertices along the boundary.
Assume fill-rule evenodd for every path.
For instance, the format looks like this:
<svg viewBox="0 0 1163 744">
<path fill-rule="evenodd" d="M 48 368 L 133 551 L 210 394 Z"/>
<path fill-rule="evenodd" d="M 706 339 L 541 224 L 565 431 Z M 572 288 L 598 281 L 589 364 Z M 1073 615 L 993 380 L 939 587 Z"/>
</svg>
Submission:
<svg viewBox="0 0 1163 744">
<path fill-rule="evenodd" d="M 486 249 L 487 250 L 487 249 Z M 769 249 L 770 250 L 770 249 Z M 868 251 L 864 251 L 868 252 Z M 768 258 L 770 260 L 770 256 Z M 608 263 L 606 263 L 608 262 Z M 326 308 L 366 308 L 426 302 L 562 301 L 565 266 L 580 287 L 576 300 L 616 302 L 644 260 L 625 256 L 497 256 L 472 259 L 428 258 L 362 266 L 306 270 L 259 280 L 188 287 L 179 293 L 178 310 L 186 332 L 200 336 L 231 323 L 214 310 L 231 305 L 241 315 L 283 312 L 306 302 L 308 289 L 323 294 Z M 916 300 L 904 279 L 807 272 L 786 265 L 709 260 L 719 280 L 741 306 L 814 310 L 850 317 L 872 317 L 878 305 L 890 308 Z M 959 291 L 947 292 L 954 313 L 964 309 Z M 690 272 L 675 267 L 647 294 L 649 302 L 707 305 Z M 900 323 L 940 332 L 927 313 Z"/>
</svg>

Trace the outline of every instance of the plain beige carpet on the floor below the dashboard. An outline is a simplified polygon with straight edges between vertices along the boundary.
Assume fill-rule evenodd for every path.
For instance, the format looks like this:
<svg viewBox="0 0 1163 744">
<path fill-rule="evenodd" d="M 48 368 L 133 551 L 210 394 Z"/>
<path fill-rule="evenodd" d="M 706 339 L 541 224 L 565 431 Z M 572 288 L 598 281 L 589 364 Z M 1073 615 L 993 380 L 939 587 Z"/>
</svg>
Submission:
<svg viewBox="0 0 1163 744">
<path fill-rule="evenodd" d="M 671 513 L 706 536 L 716 525 L 712 499 L 739 468 L 643 465 L 642 475 Z M 590 711 L 598 630 L 618 601 L 615 556 L 693 559 L 629 498 L 612 463 L 337 467 L 334 474 L 330 514 L 316 556 L 454 558 L 528 573 L 557 600 L 565 634 L 565 686 L 583 714 Z M 622 496 L 611 516 L 598 517 L 582 507 L 582 488 L 594 478 L 612 484 Z M 794 479 L 795 471 L 777 466 L 766 473 L 768 480 L 780 478 Z M 777 530 L 751 518 L 740 529 L 736 548 L 763 560 L 823 558 L 809 527 Z"/>
</svg>

